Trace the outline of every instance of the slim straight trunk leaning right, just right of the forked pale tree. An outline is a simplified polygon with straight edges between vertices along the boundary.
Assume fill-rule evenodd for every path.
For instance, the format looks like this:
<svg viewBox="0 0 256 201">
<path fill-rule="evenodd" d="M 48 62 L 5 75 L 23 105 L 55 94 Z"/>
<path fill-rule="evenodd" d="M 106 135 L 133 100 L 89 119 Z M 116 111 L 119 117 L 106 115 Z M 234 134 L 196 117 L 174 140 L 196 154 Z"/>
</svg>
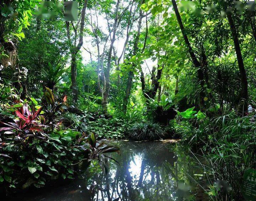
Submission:
<svg viewBox="0 0 256 201">
<path fill-rule="evenodd" d="M 141 4 L 144 3 L 144 0 L 141 1 Z M 141 29 L 141 24 L 142 24 L 142 10 L 140 9 L 140 15 L 139 15 L 139 21 L 138 21 L 138 31 L 137 31 L 137 35 L 135 37 L 134 40 L 134 46 L 133 46 L 133 55 L 137 54 L 138 51 L 138 42 L 139 42 L 139 36 L 140 36 L 140 29 Z M 135 67 L 135 66 L 134 66 Z M 128 104 L 128 100 L 130 97 L 130 91 L 132 89 L 132 80 L 133 80 L 134 74 L 133 71 L 130 71 L 128 73 L 128 80 L 127 80 L 127 87 L 126 87 L 126 93 L 123 99 L 123 111 L 126 112 L 127 110 L 127 104 Z"/>
</svg>

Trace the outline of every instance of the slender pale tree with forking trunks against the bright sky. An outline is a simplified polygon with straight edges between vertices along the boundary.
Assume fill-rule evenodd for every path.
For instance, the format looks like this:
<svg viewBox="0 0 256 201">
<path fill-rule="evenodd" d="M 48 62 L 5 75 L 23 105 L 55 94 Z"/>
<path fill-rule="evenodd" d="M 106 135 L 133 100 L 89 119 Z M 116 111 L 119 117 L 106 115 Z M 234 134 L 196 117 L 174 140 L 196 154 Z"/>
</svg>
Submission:
<svg viewBox="0 0 256 201">
<path fill-rule="evenodd" d="M 128 5 L 126 7 L 121 6 L 123 2 L 121 2 L 120 0 L 117 0 L 117 2 L 115 2 L 115 9 L 114 11 L 110 11 L 108 10 L 109 8 L 101 8 L 102 12 L 105 13 L 106 17 L 106 21 L 107 21 L 107 25 L 108 25 L 108 33 L 105 35 L 103 34 L 103 31 L 100 30 L 99 27 L 99 23 L 98 23 L 98 14 L 97 14 L 97 8 L 95 7 L 95 13 L 94 16 L 96 18 L 96 20 L 93 22 L 92 20 L 92 12 L 90 11 L 90 17 L 91 17 L 91 29 L 92 29 L 92 33 L 95 37 L 95 42 L 96 42 L 96 46 L 97 46 L 97 60 L 98 60 L 98 64 L 97 64 L 97 73 L 98 73 L 98 79 L 97 79 L 97 86 L 98 86 L 98 90 L 99 93 L 102 96 L 102 106 L 103 106 L 103 110 L 104 113 L 107 113 L 107 103 L 108 103 L 108 96 L 109 96 L 109 91 L 110 91 L 110 71 L 112 69 L 112 59 L 113 59 L 113 54 L 116 57 L 116 52 L 115 52 L 115 47 L 114 47 L 114 42 L 116 40 L 116 34 L 117 31 L 122 31 L 122 27 L 120 26 L 120 23 L 122 21 L 126 22 L 128 21 L 128 25 L 127 25 L 127 36 L 126 36 L 126 42 L 124 44 L 124 48 L 123 51 L 121 53 L 121 56 L 117 59 L 115 58 L 116 61 L 116 65 L 119 65 L 119 62 L 122 58 L 125 46 L 127 44 L 128 38 L 129 38 L 129 31 L 130 31 L 130 26 L 131 26 L 131 18 L 132 18 L 132 13 L 129 12 L 129 7 L 130 7 L 130 11 L 132 10 L 133 7 L 133 3 L 134 1 L 128 1 Z M 102 6 L 104 6 L 105 4 L 103 4 Z M 126 13 L 128 12 L 128 19 L 125 19 L 124 15 L 126 15 Z M 113 17 L 112 17 L 113 16 Z M 103 37 L 102 37 L 103 35 Z M 103 45 L 103 51 L 102 54 L 100 52 L 100 44 L 101 42 L 104 42 Z M 110 42 L 110 47 L 108 49 L 107 52 L 107 58 L 106 58 L 106 68 L 104 68 L 104 59 L 105 59 L 105 54 L 106 54 L 106 48 L 107 48 L 107 44 L 108 42 Z M 101 84 L 101 76 L 102 76 L 102 84 Z"/>
</svg>

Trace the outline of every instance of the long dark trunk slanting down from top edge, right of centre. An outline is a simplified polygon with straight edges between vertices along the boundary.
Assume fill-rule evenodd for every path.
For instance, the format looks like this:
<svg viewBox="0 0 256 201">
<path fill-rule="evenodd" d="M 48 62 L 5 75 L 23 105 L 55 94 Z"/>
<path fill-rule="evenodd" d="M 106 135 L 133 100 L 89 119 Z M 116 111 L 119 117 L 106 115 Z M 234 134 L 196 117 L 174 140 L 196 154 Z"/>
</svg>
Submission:
<svg viewBox="0 0 256 201">
<path fill-rule="evenodd" d="M 175 11 L 175 15 L 176 15 L 178 24 L 180 25 L 181 33 L 182 33 L 183 38 L 185 40 L 185 43 L 188 47 L 188 52 L 191 56 L 191 59 L 192 59 L 192 62 L 194 64 L 194 66 L 197 68 L 197 77 L 198 77 L 198 81 L 201 85 L 201 90 L 199 92 L 199 109 L 200 109 L 200 108 L 204 107 L 204 74 L 203 74 L 203 69 L 201 67 L 200 62 L 196 58 L 196 55 L 194 54 L 194 52 L 192 50 L 192 47 L 191 47 L 190 42 L 188 40 L 187 34 L 185 32 L 185 28 L 184 28 L 183 23 L 182 23 L 180 13 L 178 12 L 178 7 L 177 7 L 177 4 L 176 4 L 175 0 L 172 0 L 172 5 L 174 7 L 174 11 Z"/>
</svg>

